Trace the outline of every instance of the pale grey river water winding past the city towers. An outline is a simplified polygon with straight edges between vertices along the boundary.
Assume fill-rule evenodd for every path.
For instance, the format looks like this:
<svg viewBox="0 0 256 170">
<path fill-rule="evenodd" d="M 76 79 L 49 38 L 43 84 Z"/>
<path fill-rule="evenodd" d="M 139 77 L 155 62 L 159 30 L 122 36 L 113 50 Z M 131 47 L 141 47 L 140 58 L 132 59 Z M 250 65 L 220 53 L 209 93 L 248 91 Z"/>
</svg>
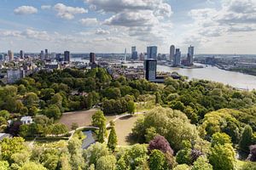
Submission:
<svg viewBox="0 0 256 170">
<path fill-rule="evenodd" d="M 79 60 L 79 59 L 75 59 Z M 84 60 L 87 62 L 88 60 Z M 143 63 L 135 64 L 125 64 L 127 66 L 137 67 L 138 65 L 143 65 Z M 157 71 L 173 72 L 176 71 L 178 74 L 189 77 L 189 79 L 205 79 L 213 82 L 222 82 L 224 84 L 229 84 L 235 88 L 256 89 L 256 77 L 251 75 L 242 74 L 233 71 L 220 70 L 215 66 L 207 66 L 200 69 L 183 69 L 174 68 L 165 65 L 158 65 Z"/>
</svg>

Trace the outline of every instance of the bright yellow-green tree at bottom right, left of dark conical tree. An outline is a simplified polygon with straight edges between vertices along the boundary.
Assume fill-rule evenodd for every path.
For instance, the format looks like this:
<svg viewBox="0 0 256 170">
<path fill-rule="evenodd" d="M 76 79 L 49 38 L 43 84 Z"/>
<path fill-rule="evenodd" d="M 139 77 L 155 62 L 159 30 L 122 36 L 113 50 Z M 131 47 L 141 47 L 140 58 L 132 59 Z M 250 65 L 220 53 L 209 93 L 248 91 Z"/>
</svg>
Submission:
<svg viewBox="0 0 256 170">
<path fill-rule="evenodd" d="M 235 169 L 236 158 L 235 151 L 231 144 L 216 144 L 211 149 L 209 161 L 214 170 L 232 170 Z"/>
</svg>

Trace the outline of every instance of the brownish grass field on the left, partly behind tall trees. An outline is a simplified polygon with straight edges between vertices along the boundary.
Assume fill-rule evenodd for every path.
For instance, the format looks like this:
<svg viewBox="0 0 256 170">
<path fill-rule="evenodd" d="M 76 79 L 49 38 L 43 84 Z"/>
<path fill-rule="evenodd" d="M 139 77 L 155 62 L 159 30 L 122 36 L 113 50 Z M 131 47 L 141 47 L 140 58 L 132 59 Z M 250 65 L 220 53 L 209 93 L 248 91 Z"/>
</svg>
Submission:
<svg viewBox="0 0 256 170">
<path fill-rule="evenodd" d="M 69 129 L 72 127 L 72 123 L 76 122 L 79 127 L 89 127 L 91 125 L 91 117 L 97 110 L 90 111 L 73 111 L 64 113 L 61 116 L 59 122 L 65 124 Z M 107 121 L 110 122 L 115 116 L 106 116 Z"/>
</svg>

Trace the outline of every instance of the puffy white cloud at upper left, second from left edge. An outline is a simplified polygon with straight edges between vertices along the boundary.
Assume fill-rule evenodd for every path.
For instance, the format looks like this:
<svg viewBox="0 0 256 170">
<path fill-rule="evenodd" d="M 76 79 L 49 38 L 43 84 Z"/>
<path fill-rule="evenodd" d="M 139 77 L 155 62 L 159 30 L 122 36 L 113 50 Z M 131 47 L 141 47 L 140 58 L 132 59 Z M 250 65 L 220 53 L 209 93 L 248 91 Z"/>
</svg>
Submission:
<svg viewBox="0 0 256 170">
<path fill-rule="evenodd" d="M 57 16 L 66 20 L 72 20 L 75 14 L 88 13 L 88 10 L 85 8 L 69 7 L 64 5 L 63 3 L 55 4 L 54 8 L 55 11 L 57 11 Z"/>
</svg>

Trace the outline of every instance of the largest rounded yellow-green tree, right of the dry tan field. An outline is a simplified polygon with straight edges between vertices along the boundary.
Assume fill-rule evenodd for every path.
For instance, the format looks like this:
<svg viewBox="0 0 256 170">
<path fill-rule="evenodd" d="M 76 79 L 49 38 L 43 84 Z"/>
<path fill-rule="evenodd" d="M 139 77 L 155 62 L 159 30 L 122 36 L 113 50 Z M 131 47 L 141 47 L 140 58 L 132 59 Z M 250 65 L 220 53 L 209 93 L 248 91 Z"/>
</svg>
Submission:
<svg viewBox="0 0 256 170">
<path fill-rule="evenodd" d="M 183 140 L 197 139 L 195 125 L 189 123 L 187 116 L 180 111 L 157 107 L 149 111 L 144 120 L 138 120 L 132 132 L 135 138 L 145 142 L 146 129 L 154 127 L 155 132 L 164 136 L 174 150 L 182 149 Z"/>
</svg>

